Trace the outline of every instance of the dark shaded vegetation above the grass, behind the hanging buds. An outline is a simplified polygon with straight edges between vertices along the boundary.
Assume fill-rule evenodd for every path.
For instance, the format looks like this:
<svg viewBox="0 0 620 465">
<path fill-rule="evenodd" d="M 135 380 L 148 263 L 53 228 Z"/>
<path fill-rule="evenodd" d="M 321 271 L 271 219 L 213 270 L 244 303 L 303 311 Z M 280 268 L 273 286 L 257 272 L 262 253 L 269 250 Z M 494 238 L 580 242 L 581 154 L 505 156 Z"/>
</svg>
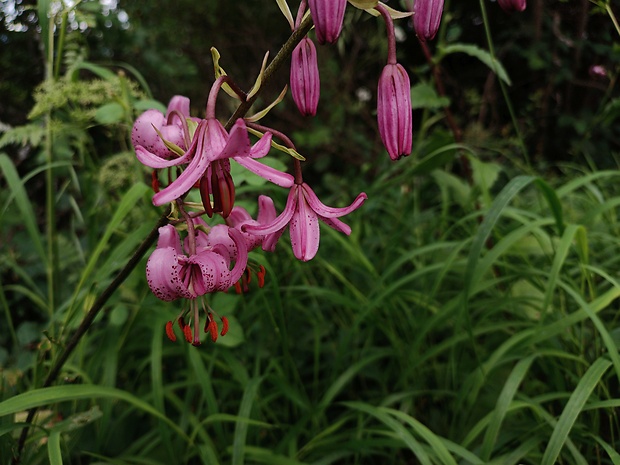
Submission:
<svg viewBox="0 0 620 465">
<path fill-rule="evenodd" d="M 400 7 L 394 0 L 388 4 Z M 26 121 L 44 70 L 34 2 L 13 0 L 7 5 L 14 5 L 17 14 L 0 24 L 0 121 L 17 125 Z M 613 72 L 620 63 L 620 45 L 608 17 L 588 0 L 533 0 L 524 13 L 512 15 L 494 2 L 487 8 L 496 52 L 513 81 L 510 98 L 533 160 L 542 166 L 584 159 L 610 166 L 609 154 L 620 140 L 618 125 L 612 124 L 618 110 L 610 109 L 603 121 L 594 119 L 610 83 L 609 77 L 590 73 L 592 66 Z M 122 21 L 119 10 L 126 12 Z M 197 113 L 203 111 L 213 81 L 211 46 L 223 54 L 228 74 L 249 88 L 263 54 L 275 53 L 289 33 L 279 11 L 257 1 L 119 1 L 107 15 L 97 13 L 97 8 L 87 11 L 87 20 L 96 27 L 69 34 L 76 53 L 95 63 L 131 64 L 155 98 L 167 102 L 173 94 L 187 95 Z M 315 152 L 313 163 L 319 172 L 341 169 L 343 162 L 362 164 L 377 155 L 374 94 L 385 43 L 380 22 L 366 16 L 350 9 L 345 21 L 355 26 L 345 26 L 338 46 L 319 48 L 323 104 L 318 117 L 299 116 L 290 100 L 274 112 L 275 127 L 304 131 L 302 145 Z M 16 24 L 26 30 L 11 30 Z M 399 60 L 414 73 L 413 84 L 418 71 L 428 79 L 412 28 L 407 20 L 398 24 L 403 32 Z M 447 2 L 442 27 L 443 44 L 486 48 L 477 1 Z M 448 56 L 442 68 L 451 108 L 466 135 L 484 144 L 492 143 L 486 136 L 511 133 L 497 80 L 488 69 L 465 54 Z M 272 96 L 287 79 L 283 71 Z M 370 91 L 369 101 L 360 102 L 360 89 Z M 477 129 L 482 127 L 481 134 Z"/>
</svg>

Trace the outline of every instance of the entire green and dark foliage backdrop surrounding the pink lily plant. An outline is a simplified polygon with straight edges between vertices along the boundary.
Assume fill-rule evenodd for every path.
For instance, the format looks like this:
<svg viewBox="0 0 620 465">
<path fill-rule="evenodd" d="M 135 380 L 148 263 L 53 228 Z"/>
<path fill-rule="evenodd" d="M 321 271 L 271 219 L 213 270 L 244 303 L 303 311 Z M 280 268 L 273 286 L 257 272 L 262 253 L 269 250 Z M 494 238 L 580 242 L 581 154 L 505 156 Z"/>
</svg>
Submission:
<svg viewBox="0 0 620 465">
<path fill-rule="evenodd" d="M 133 119 L 173 94 L 201 114 L 211 46 L 247 88 L 290 32 L 275 2 L 58 6 L 0 13 L 2 463 L 33 406 L 28 464 L 620 463 L 615 5 L 446 3 L 430 46 L 444 96 L 401 20 L 416 127 L 397 163 L 374 114 L 383 25 L 350 9 L 319 48 L 318 116 L 287 98 L 269 124 L 326 203 L 368 193 L 352 236 L 323 229 L 310 263 L 285 244 L 254 253 L 266 287 L 215 295 L 231 333 L 199 349 L 164 337 L 178 309 L 150 294 L 143 261 L 41 388 L 161 214 Z M 265 188 L 246 183 L 241 202 Z"/>
</svg>

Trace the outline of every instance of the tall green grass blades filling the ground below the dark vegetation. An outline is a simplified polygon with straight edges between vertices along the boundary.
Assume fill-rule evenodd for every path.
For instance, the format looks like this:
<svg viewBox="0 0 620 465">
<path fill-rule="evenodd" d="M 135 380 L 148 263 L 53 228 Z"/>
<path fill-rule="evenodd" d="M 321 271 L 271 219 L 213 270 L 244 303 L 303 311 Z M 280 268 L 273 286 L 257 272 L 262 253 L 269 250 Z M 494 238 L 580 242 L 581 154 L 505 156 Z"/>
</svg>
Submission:
<svg viewBox="0 0 620 465">
<path fill-rule="evenodd" d="M 214 296 L 233 333 L 200 348 L 138 270 L 59 385 L 3 371 L 2 456 L 41 406 L 24 463 L 616 464 L 616 184 L 515 177 L 478 209 L 387 173 L 316 260 L 256 253 L 267 285 Z"/>
</svg>

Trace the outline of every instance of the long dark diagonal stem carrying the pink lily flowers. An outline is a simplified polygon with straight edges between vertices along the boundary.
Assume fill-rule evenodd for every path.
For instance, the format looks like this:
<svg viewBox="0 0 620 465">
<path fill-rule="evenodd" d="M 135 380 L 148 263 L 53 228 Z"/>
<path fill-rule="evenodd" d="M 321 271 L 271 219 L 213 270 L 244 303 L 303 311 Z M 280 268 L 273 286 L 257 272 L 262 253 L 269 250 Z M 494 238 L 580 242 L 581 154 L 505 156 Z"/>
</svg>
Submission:
<svg viewBox="0 0 620 465">
<path fill-rule="evenodd" d="M 230 130 L 233 124 L 235 124 L 235 121 L 237 121 L 237 119 L 243 118 L 245 116 L 245 114 L 248 112 L 252 104 L 258 98 L 259 94 L 263 91 L 263 89 L 269 83 L 274 73 L 290 58 L 297 44 L 301 41 L 301 39 L 303 39 L 306 36 L 306 34 L 308 33 L 308 31 L 310 31 L 311 28 L 312 28 L 312 18 L 311 16 L 308 15 L 308 17 L 301 23 L 299 28 L 297 28 L 291 34 L 291 36 L 284 43 L 284 45 L 282 46 L 278 54 L 271 61 L 269 66 L 267 66 L 267 68 L 265 69 L 265 73 L 263 74 L 261 88 L 251 98 L 242 102 L 241 105 L 237 107 L 237 110 L 235 111 L 235 113 L 230 117 L 230 119 L 224 126 L 226 130 Z M 159 218 L 155 227 L 151 230 L 151 232 L 146 237 L 146 239 L 142 241 L 138 249 L 134 252 L 134 254 L 131 256 L 131 258 L 127 262 L 127 264 L 118 273 L 118 275 L 116 276 L 116 278 L 114 278 L 114 280 L 110 283 L 110 285 L 103 290 L 99 298 L 95 301 L 93 306 L 90 308 L 90 310 L 88 311 L 88 313 L 82 320 L 82 323 L 80 323 L 80 326 L 78 327 L 78 329 L 75 331 L 75 333 L 73 333 L 73 336 L 71 336 L 71 339 L 65 346 L 64 351 L 61 353 L 60 357 L 56 360 L 56 362 L 52 366 L 52 369 L 48 373 L 47 378 L 45 378 L 45 381 L 42 387 L 44 388 L 49 387 L 52 385 L 54 381 L 56 381 L 56 378 L 58 378 L 58 375 L 60 374 L 60 371 L 62 370 L 62 367 L 64 366 L 65 362 L 69 359 L 69 356 L 71 355 L 73 350 L 77 347 L 78 343 L 80 342 L 84 334 L 86 334 L 86 332 L 90 328 L 90 325 L 95 320 L 95 317 L 99 314 L 103 306 L 106 304 L 108 299 L 112 296 L 112 294 L 114 294 L 116 289 L 118 289 L 118 287 L 131 274 L 131 272 L 136 267 L 136 265 L 140 262 L 144 254 L 155 243 L 159 235 L 158 234 L 159 228 L 168 224 L 168 222 L 169 222 L 168 213 L 162 215 Z M 34 419 L 36 412 L 37 412 L 36 407 L 28 411 L 26 423 L 28 424 L 32 423 L 32 420 Z M 13 465 L 18 465 L 20 462 L 22 451 L 24 449 L 24 445 L 26 444 L 26 439 L 28 438 L 29 429 L 30 429 L 29 425 L 25 426 L 21 432 L 21 435 L 19 437 L 19 442 L 17 444 L 17 449 L 14 452 L 13 460 L 11 462 Z"/>
</svg>

